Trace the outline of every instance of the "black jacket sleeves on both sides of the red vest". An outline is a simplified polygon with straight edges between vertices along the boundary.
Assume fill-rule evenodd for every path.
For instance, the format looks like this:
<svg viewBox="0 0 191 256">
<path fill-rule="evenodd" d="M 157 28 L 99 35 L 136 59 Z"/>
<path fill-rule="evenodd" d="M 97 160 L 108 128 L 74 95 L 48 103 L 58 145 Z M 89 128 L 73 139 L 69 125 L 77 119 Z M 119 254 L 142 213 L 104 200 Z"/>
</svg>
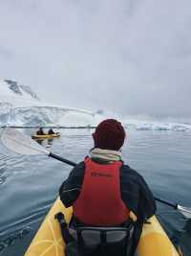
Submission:
<svg viewBox="0 0 191 256">
<path fill-rule="evenodd" d="M 85 173 L 85 163 L 74 167 L 68 178 L 59 189 L 59 196 L 66 207 L 72 206 L 78 198 Z M 155 215 L 156 202 L 143 177 L 128 165 L 120 169 L 121 198 L 127 207 L 138 216 L 138 223 L 142 225 L 145 219 Z"/>
</svg>

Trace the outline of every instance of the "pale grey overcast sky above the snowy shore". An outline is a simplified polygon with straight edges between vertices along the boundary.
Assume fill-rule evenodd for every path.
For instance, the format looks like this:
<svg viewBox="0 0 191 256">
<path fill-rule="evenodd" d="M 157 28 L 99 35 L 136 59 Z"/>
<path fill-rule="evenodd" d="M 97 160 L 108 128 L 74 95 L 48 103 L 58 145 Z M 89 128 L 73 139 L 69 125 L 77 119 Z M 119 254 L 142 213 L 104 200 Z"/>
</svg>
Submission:
<svg viewBox="0 0 191 256">
<path fill-rule="evenodd" d="M 191 1 L 0 0 L 0 78 L 56 104 L 191 116 Z"/>
</svg>

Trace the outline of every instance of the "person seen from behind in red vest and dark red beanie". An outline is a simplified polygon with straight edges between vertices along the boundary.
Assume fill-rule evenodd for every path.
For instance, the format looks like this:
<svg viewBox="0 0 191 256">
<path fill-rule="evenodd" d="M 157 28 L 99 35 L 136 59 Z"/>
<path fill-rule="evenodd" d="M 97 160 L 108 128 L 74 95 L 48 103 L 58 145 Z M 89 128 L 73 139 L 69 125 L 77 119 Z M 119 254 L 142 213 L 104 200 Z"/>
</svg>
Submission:
<svg viewBox="0 0 191 256">
<path fill-rule="evenodd" d="M 66 207 L 73 206 L 77 225 L 118 227 L 134 219 L 129 254 L 134 255 L 143 223 L 156 213 L 156 202 L 143 177 L 122 161 L 125 137 L 117 120 L 102 121 L 93 133 L 95 147 L 74 167 L 59 196 Z M 123 252 L 124 247 L 113 246 L 112 253 L 104 255 L 125 255 Z"/>
</svg>

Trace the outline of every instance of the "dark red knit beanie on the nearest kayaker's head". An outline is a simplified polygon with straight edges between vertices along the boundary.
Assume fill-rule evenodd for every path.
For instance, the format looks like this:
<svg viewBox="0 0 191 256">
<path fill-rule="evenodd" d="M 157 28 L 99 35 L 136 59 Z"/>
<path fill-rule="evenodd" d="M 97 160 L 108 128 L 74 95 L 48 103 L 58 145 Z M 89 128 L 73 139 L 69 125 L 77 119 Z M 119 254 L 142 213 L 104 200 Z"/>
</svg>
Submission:
<svg viewBox="0 0 191 256">
<path fill-rule="evenodd" d="M 115 119 L 102 121 L 93 133 L 95 147 L 102 150 L 118 151 L 125 140 L 125 130 Z"/>
</svg>

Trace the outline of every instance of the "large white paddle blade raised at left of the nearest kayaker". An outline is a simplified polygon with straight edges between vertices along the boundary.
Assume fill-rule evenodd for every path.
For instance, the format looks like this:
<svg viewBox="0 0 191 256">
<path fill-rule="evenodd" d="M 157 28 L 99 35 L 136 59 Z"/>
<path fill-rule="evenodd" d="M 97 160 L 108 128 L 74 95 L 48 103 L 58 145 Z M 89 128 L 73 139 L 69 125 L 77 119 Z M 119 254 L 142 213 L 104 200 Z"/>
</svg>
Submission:
<svg viewBox="0 0 191 256">
<path fill-rule="evenodd" d="M 31 137 L 15 128 L 5 128 L 1 134 L 1 141 L 11 151 L 21 154 L 50 154 Z"/>
</svg>

